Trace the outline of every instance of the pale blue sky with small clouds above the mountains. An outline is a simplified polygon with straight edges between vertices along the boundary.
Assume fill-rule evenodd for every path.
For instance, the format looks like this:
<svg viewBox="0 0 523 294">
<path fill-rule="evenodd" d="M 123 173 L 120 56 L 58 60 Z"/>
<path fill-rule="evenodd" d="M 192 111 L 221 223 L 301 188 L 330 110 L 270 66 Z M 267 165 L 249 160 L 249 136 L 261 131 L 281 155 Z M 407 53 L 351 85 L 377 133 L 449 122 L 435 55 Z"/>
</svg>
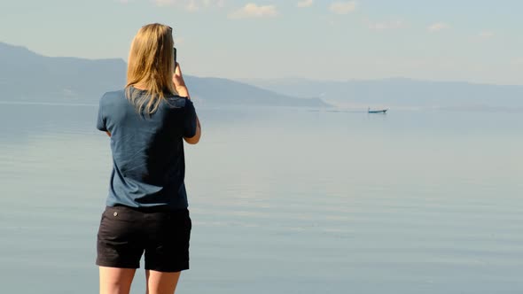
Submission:
<svg viewBox="0 0 523 294">
<path fill-rule="evenodd" d="M 521 15 L 519 0 L 2 0 L 0 42 L 127 60 L 160 22 L 185 74 L 523 85 Z"/>
</svg>

